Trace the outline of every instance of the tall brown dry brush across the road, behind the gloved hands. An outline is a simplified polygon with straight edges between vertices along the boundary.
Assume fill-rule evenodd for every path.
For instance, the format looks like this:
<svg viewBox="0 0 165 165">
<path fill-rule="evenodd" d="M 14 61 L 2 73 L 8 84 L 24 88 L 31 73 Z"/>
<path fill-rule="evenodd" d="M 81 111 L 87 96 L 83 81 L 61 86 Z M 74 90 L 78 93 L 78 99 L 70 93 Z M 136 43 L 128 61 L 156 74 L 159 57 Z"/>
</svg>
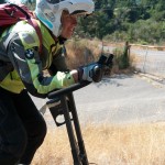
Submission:
<svg viewBox="0 0 165 165">
<path fill-rule="evenodd" d="M 101 45 L 106 45 L 98 40 L 72 40 L 66 42 L 66 63 L 69 69 L 78 68 L 79 66 L 85 66 L 90 63 L 97 62 L 100 55 L 103 53 L 106 56 L 109 56 L 109 52 L 102 51 Z M 114 46 L 114 45 L 113 45 Z M 122 43 L 120 45 L 116 45 L 117 48 L 112 52 L 114 54 L 113 58 L 113 66 L 110 69 L 107 76 L 113 74 L 130 74 L 134 70 L 132 66 L 135 56 L 130 56 L 128 62 L 130 67 L 121 69 L 119 67 L 120 64 L 124 64 L 123 59 L 121 58 L 124 52 L 125 45 Z"/>
</svg>

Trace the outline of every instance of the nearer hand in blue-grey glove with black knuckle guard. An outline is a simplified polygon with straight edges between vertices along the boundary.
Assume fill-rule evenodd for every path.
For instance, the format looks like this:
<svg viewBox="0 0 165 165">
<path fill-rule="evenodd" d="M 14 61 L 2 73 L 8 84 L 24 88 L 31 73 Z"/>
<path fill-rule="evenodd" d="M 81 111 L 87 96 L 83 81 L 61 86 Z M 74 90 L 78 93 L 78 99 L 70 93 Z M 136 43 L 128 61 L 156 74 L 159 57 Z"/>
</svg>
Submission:
<svg viewBox="0 0 165 165">
<path fill-rule="evenodd" d="M 99 82 L 102 79 L 103 70 L 100 64 L 94 63 L 78 69 L 79 80 L 88 80 Z"/>
</svg>

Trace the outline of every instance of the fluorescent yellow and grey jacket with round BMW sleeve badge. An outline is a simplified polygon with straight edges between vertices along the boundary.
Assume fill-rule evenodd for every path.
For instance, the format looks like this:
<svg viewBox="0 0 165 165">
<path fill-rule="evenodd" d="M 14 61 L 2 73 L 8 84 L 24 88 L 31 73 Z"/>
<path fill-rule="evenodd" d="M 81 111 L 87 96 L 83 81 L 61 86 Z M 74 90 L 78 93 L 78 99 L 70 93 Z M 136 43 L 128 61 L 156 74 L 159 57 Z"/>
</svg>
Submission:
<svg viewBox="0 0 165 165">
<path fill-rule="evenodd" d="M 66 72 L 63 43 L 55 41 L 48 30 L 37 21 L 42 32 L 42 54 L 35 29 L 20 21 L 7 29 L 0 37 L 0 87 L 20 94 L 26 88 L 33 96 L 45 97 L 54 89 L 73 85 L 74 78 Z M 57 69 L 53 76 L 43 70 Z"/>
</svg>

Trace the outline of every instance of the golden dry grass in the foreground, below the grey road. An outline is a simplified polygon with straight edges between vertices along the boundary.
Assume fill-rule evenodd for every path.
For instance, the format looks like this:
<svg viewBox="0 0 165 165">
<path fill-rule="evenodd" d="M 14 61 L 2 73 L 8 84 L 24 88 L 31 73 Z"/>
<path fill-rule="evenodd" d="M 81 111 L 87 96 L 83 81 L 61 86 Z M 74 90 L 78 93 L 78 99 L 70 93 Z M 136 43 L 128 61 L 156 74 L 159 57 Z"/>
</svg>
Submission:
<svg viewBox="0 0 165 165">
<path fill-rule="evenodd" d="M 98 165 L 164 165 L 165 123 L 81 128 L 88 160 Z M 65 128 L 48 130 L 33 165 L 73 165 Z"/>
</svg>

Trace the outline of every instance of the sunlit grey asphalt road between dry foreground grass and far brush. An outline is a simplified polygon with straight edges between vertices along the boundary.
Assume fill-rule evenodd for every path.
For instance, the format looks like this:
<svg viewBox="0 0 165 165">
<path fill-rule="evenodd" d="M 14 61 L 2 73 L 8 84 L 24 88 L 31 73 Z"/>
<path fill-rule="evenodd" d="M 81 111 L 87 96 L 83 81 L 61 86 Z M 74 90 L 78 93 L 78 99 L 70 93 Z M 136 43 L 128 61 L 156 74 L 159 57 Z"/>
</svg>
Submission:
<svg viewBox="0 0 165 165">
<path fill-rule="evenodd" d="M 74 91 L 80 123 L 139 123 L 165 120 L 165 85 L 139 75 L 116 75 Z M 45 100 L 33 98 L 40 108 Z M 44 114 L 54 123 L 50 111 Z"/>
</svg>

